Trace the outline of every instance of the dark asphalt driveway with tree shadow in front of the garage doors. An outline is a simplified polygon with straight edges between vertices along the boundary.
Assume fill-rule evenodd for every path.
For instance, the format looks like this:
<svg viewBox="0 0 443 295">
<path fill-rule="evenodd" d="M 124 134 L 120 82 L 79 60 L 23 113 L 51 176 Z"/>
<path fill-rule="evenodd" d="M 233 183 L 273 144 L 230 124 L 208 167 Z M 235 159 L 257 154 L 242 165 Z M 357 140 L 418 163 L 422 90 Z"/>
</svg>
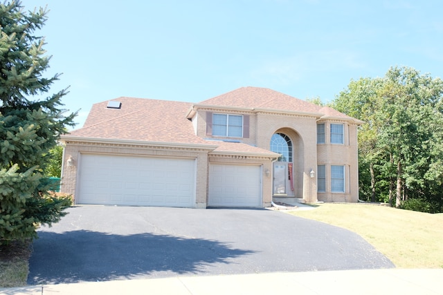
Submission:
<svg viewBox="0 0 443 295">
<path fill-rule="evenodd" d="M 167 276 L 377 269 L 360 236 L 266 209 L 84 206 L 39 229 L 29 285 Z"/>
</svg>

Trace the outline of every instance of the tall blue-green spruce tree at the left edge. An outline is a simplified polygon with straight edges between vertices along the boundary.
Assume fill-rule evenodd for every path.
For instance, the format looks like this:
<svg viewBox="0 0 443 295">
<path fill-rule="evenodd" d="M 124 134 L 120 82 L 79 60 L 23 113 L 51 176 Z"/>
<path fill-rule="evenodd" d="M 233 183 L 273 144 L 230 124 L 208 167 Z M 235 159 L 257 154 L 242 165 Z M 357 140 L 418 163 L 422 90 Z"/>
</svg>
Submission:
<svg viewBox="0 0 443 295">
<path fill-rule="evenodd" d="M 24 12 L 19 1 L 0 3 L 0 245 L 35 238 L 38 225 L 60 220 L 71 203 L 49 195 L 42 175 L 44 155 L 75 116 L 61 108 L 66 89 L 48 95 L 59 75 L 44 77 L 50 57 L 35 36 L 46 15 Z"/>
</svg>

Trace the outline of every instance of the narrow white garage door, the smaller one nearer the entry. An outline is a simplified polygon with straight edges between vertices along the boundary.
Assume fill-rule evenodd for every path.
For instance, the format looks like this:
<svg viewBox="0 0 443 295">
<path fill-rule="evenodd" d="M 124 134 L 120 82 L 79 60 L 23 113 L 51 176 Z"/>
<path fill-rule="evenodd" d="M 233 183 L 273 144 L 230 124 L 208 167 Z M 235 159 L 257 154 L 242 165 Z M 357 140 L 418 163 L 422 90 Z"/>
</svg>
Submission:
<svg viewBox="0 0 443 295">
<path fill-rule="evenodd" d="M 262 167 L 210 164 L 208 206 L 262 207 Z"/>
</svg>

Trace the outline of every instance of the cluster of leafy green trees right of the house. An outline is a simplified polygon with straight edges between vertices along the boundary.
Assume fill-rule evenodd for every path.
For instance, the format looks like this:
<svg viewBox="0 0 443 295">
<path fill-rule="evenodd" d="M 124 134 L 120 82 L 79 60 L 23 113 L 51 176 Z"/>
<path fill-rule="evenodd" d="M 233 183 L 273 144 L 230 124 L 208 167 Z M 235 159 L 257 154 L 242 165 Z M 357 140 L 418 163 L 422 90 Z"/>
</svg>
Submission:
<svg viewBox="0 0 443 295">
<path fill-rule="evenodd" d="M 366 122 L 359 131 L 361 196 L 442 211 L 442 96 L 441 79 L 396 67 L 383 78 L 352 81 L 336 97 L 334 108 Z"/>
</svg>

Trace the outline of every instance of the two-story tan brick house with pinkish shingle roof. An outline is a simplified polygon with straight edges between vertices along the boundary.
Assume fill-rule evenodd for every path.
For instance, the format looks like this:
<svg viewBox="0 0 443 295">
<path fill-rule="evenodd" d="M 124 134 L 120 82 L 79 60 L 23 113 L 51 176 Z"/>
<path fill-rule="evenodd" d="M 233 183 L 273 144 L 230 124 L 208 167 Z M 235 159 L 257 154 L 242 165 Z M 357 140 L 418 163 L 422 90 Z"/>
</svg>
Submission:
<svg viewBox="0 0 443 295">
<path fill-rule="evenodd" d="M 273 196 L 357 202 L 363 122 L 267 88 L 198 104 L 119 97 L 62 135 L 76 204 L 269 207 Z"/>
</svg>

